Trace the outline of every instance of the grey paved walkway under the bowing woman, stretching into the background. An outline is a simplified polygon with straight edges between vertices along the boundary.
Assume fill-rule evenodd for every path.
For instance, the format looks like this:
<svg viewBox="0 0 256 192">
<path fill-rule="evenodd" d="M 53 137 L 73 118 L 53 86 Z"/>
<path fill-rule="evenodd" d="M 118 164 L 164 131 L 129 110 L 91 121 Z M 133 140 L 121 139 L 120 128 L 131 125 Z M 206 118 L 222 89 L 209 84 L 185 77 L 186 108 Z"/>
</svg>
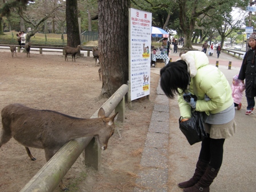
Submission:
<svg viewBox="0 0 256 192">
<path fill-rule="evenodd" d="M 178 54 L 176 56 L 171 53 L 170 57 L 175 61 L 178 59 Z M 210 58 L 210 63 L 215 65 L 216 60 L 217 57 L 213 56 Z M 233 76 L 239 73 L 242 61 L 224 53 L 218 60 L 219 69 L 231 84 Z M 236 63 L 232 65 L 231 70 L 228 70 L 229 61 Z M 151 73 L 159 74 L 159 70 L 152 67 Z M 211 192 L 256 191 L 256 116 L 245 115 L 245 97 L 242 105 L 241 110 L 235 111 L 237 133 L 233 138 L 225 141 L 222 167 L 218 177 L 210 186 Z M 158 84 L 157 98 L 134 192 L 183 191 L 177 184 L 193 175 L 201 143 L 189 145 L 179 130 L 179 116 L 177 100 L 168 99 Z"/>
</svg>

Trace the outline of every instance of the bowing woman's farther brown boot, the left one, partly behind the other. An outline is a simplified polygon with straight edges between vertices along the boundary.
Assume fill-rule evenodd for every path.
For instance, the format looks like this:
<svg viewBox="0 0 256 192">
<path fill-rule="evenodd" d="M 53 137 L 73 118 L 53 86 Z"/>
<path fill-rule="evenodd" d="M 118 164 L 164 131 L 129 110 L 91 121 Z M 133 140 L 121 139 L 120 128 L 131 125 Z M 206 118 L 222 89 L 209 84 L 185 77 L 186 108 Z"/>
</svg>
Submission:
<svg viewBox="0 0 256 192">
<path fill-rule="evenodd" d="M 193 177 L 191 179 L 189 179 L 189 181 L 179 183 L 178 186 L 181 188 L 187 188 L 187 187 L 194 186 L 201 179 L 201 177 L 205 173 L 205 170 L 208 165 L 209 165 L 209 162 L 202 161 L 202 160 L 198 159 L 197 166 L 196 166 L 195 173 L 194 173 Z"/>
</svg>

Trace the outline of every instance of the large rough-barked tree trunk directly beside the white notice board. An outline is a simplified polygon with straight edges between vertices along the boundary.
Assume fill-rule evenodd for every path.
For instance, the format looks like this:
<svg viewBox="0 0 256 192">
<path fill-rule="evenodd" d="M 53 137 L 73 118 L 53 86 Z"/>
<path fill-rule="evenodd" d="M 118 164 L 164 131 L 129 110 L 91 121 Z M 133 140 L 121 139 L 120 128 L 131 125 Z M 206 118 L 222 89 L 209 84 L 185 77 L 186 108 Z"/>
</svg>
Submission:
<svg viewBox="0 0 256 192">
<path fill-rule="evenodd" d="M 109 98 L 129 79 L 130 0 L 99 0 L 99 62 L 101 97 Z"/>
</svg>

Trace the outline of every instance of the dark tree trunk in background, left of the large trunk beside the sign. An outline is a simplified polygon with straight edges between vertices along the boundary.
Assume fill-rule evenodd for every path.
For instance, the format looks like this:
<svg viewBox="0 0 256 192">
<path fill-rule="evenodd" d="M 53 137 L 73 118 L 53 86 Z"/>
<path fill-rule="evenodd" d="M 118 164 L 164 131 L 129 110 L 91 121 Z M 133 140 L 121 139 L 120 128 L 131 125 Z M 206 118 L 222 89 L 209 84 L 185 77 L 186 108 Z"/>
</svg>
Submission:
<svg viewBox="0 0 256 192">
<path fill-rule="evenodd" d="M 77 0 L 66 1 L 66 21 L 67 21 L 67 46 L 77 47 L 80 45 L 80 34 L 78 25 Z M 78 53 L 78 55 L 80 52 Z"/>
</svg>

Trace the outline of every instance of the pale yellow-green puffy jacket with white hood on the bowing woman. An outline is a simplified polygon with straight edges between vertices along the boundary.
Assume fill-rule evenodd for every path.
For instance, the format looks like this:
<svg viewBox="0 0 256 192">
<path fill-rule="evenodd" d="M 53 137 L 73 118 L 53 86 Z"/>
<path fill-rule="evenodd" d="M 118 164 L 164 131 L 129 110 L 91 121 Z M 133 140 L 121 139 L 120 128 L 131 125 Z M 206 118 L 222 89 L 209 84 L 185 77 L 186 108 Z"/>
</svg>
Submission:
<svg viewBox="0 0 256 192">
<path fill-rule="evenodd" d="M 202 51 L 189 51 L 181 55 L 181 59 L 189 66 L 191 77 L 189 92 L 195 95 L 194 86 L 197 88 L 198 100 L 196 111 L 205 111 L 206 114 L 219 113 L 234 101 L 232 91 L 225 75 L 215 66 L 209 65 L 209 59 Z M 178 95 L 179 110 L 183 118 L 191 117 L 191 107 L 184 101 L 183 93 Z M 205 101 L 207 95 L 211 100 Z"/>
</svg>

